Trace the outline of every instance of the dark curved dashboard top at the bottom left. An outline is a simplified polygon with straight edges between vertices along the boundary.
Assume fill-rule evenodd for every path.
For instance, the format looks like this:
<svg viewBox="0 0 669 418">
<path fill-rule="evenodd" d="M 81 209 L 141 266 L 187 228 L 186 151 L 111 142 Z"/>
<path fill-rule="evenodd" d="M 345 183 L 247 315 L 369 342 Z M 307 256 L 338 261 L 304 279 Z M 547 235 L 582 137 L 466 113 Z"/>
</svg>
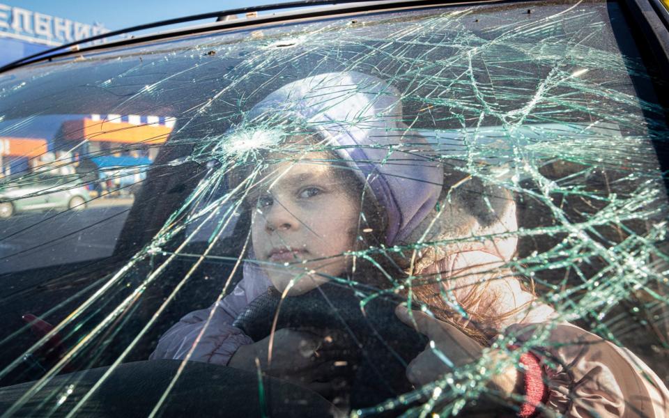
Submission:
<svg viewBox="0 0 669 418">
<path fill-rule="evenodd" d="M 83 417 L 147 417 L 178 372 L 178 360 L 120 364 L 77 411 Z M 61 417 L 72 412 L 107 367 L 56 376 L 20 408 L 15 417 Z M 0 389 L 7 412 L 34 382 Z M 68 389 L 70 388 L 70 389 Z M 157 416 L 161 417 L 332 417 L 325 398 L 284 380 L 200 362 L 185 364 Z"/>
</svg>

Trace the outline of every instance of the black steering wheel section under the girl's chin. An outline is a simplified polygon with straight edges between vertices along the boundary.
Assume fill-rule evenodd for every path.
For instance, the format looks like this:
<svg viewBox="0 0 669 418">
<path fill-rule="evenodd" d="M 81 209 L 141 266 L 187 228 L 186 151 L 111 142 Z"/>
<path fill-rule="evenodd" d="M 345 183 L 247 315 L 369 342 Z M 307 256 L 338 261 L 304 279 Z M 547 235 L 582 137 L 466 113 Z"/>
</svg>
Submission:
<svg viewBox="0 0 669 418">
<path fill-rule="evenodd" d="M 424 350 L 426 336 L 394 314 L 401 297 L 394 293 L 371 297 L 353 285 L 328 282 L 303 295 L 286 297 L 275 288 L 251 302 L 233 323 L 253 341 L 276 329 L 311 328 L 337 335 L 335 343 L 355 359 L 349 382 L 350 406 L 369 408 L 412 389 L 406 366 Z"/>
</svg>

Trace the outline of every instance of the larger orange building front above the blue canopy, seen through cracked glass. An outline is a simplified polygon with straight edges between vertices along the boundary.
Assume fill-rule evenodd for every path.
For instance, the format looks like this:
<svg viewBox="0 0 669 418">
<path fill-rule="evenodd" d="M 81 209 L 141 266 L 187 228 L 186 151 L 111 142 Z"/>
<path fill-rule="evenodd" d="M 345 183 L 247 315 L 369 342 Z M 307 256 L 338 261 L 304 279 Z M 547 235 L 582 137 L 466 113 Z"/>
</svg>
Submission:
<svg viewBox="0 0 669 418">
<path fill-rule="evenodd" d="M 172 132 L 164 125 L 133 125 L 125 122 L 93 121 L 84 118 L 66 121 L 62 127 L 65 139 L 120 142 L 125 144 L 163 144 Z"/>
</svg>

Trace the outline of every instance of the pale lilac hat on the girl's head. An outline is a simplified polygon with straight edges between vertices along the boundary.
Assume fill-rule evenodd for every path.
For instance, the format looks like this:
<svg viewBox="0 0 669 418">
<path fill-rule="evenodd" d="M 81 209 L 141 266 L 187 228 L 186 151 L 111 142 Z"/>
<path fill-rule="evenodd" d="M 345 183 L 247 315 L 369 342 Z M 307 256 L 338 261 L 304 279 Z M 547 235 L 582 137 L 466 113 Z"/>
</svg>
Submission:
<svg viewBox="0 0 669 418">
<path fill-rule="evenodd" d="M 286 84 L 256 104 L 246 122 L 300 121 L 355 169 L 385 208 L 386 245 L 402 242 L 429 215 L 443 167 L 402 122 L 399 91 L 360 72 L 331 72 Z"/>
</svg>

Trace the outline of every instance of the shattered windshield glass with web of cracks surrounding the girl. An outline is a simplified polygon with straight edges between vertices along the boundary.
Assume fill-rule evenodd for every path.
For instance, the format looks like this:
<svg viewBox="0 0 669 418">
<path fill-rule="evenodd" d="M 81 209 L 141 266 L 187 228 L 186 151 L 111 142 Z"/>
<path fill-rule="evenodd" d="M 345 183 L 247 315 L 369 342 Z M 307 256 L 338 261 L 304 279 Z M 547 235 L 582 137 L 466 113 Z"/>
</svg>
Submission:
<svg viewBox="0 0 669 418">
<path fill-rule="evenodd" d="M 555 346 L 551 330 L 564 321 L 629 348 L 667 381 L 668 205 L 657 158 L 666 109 L 629 39 L 615 3 L 459 6 L 164 40 L 3 75 L 0 141 L 47 137 L 22 155 L 3 148 L 2 204 L 16 213 L 0 226 L 2 315 L 11 325 L 0 336 L 0 378 L 22 384 L 7 415 L 85 413 L 114 370 L 147 359 L 181 316 L 232 291 L 255 260 L 250 219 L 262 209 L 248 202 L 259 190 L 298 162 L 352 167 L 332 141 L 293 139 L 332 123 L 371 129 L 378 118 L 394 121 L 382 135 L 395 142 L 361 146 L 384 151 L 369 154 L 383 157 L 368 166 L 390 172 L 420 156 L 443 168 L 443 192 L 401 242 L 384 242 L 361 213 L 355 236 L 364 245 L 330 258 L 367 275 L 322 276 L 362 286 L 362 307 L 394 295 L 462 327 L 486 325 L 486 347 L 428 385 L 348 413 L 450 416 L 481 396 L 500 401 L 492 376 L 524 351 Z M 318 116 L 355 93 L 374 92 L 378 102 L 394 94 L 374 83 L 340 86 L 336 99 L 318 86 L 296 90 L 274 113 L 253 110 L 291 82 L 351 72 L 395 89 L 401 114 Z M 293 117 L 307 96 L 319 110 Z M 133 124 L 128 115 L 141 117 Z M 95 169 L 83 170 L 89 162 Z M 375 174 L 365 174 L 371 184 Z M 85 206 L 19 213 L 31 199 L 81 187 L 95 191 Z M 509 200 L 517 227 L 501 219 Z M 424 270 L 491 242 L 515 251 L 456 273 Z M 303 263 L 258 263 L 295 281 L 318 275 Z M 509 280 L 535 295 L 522 315 L 540 304 L 555 310 L 529 339 L 507 332 L 512 319 L 489 318 L 502 311 L 481 308 L 493 309 Z M 478 307 L 463 302 L 467 295 L 482 296 Z M 54 328 L 40 333 L 25 313 Z M 92 383 L 60 376 L 100 366 L 111 367 Z M 180 372 L 152 415 L 169 403 Z"/>
</svg>

